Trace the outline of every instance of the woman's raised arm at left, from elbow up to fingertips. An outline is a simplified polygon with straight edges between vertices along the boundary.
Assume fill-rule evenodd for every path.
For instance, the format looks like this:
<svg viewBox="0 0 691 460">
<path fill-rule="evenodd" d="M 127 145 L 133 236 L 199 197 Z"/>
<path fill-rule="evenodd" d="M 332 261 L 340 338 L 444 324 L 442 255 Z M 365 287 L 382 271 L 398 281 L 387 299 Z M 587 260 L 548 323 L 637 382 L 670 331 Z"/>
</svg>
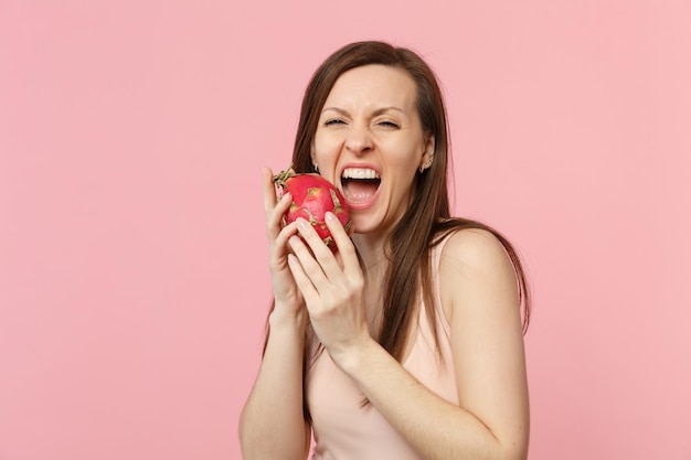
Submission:
<svg viewBox="0 0 691 460">
<path fill-rule="evenodd" d="M 308 322 L 305 301 L 288 268 L 288 238 L 295 225 L 283 226 L 291 199 L 278 203 L 264 169 L 264 211 L 269 240 L 269 269 L 274 310 L 257 379 L 240 418 L 240 440 L 245 460 L 307 458 L 310 427 L 302 414 L 302 356 Z"/>
</svg>

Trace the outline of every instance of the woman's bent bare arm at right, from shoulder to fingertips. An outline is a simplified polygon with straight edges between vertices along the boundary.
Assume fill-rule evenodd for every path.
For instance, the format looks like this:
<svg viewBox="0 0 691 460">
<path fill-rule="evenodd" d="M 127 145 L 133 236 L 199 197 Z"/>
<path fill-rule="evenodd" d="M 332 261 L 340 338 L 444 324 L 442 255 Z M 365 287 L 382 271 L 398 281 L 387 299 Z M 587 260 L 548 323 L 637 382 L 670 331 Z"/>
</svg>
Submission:
<svg viewBox="0 0 691 460">
<path fill-rule="evenodd" d="M 360 306 L 348 304 L 357 299 L 346 293 L 349 281 L 339 279 L 311 231 L 300 232 L 321 258 L 317 270 L 301 243 L 293 240 L 300 264 L 291 258 L 290 267 L 312 327 L 334 363 L 418 454 L 429 460 L 525 459 L 529 405 L 518 287 L 501 244 L 487 232 L 460 231 L 444 250 L 439 276 L 451 328 L 456 406 L 419 384 L 363 332 L 352 313 Z M 331 233 L 343 237 L 338 228 Z"/>
</svg>

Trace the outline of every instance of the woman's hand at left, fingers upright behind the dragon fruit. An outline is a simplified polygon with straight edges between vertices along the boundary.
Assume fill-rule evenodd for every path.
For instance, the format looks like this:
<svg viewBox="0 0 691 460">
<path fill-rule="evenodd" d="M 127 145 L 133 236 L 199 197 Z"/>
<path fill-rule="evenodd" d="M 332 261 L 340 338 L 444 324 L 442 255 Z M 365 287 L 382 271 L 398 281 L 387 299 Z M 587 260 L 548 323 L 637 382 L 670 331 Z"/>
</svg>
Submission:
<svg viewBox="0 0 691 460">
<path fill-rule="evenodd" d="M 284 194 L 276 197 L 274 173 L 264 167 L 264 212 L 269 245 L 269 270 L 274 288 L 274 311 L 297 314 L 305 310 L 305 300 L 288 267 L 288 239 L 297 233 L 296 223 L 284 225 L 284 215 L 290 207 L 293 197 Z"/>
</svg>

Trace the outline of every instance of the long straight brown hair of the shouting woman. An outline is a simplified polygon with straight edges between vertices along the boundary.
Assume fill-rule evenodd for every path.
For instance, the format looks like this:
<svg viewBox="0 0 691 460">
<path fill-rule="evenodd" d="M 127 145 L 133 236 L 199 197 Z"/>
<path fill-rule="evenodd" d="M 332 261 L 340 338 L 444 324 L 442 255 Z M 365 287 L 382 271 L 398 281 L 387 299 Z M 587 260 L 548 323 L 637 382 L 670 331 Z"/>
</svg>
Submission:
<svg viewBox="0 0 691 460">
<path fill-rule="evenodd" d="M 305 92 L 293 152 L 295 170 L 311 172 L 310 149 L 319 114 L 336 81 L 351 68 L 370 64 L 397 67 L 408 73 L 416 85 L 417 110 L 423 130 L 433 135 L 435 139 L 434 162 L 416 175 L 417 192 L 386 245 L 389 268 L 383 284 L 383 315 L 378 334 L 379 342 L 392 356 L 402 360 L 407 331 L 416 318 L 421 293 L 426 314 L 430 320 L 429 324 L 434 328 L 436 324 L 434 318 L 437 313 L 432 282 L 430 249 L 448 234 L 463 228 L 482 228 L 491 232 L 504 246 L 517 274 L 525 332 L 530 318 L 530 292 L 515 249 L 504 236 L 481 222 L 450 217 L 447 190 L 449 136 L 446 108 L 434 72 L 415 52 L 389 43 L 366 41 L 348 44 L 331 54 L 317 68 Z M 433 332 L 436 338 L 436 331 Z"/>
</svg>

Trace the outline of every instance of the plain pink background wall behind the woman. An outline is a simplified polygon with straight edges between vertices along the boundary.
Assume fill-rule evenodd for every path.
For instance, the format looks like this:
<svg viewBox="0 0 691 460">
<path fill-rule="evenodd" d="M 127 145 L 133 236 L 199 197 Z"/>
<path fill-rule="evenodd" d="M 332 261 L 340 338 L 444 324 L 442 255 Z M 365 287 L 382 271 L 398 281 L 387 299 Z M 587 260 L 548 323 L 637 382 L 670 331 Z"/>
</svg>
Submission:
<svg viewBox="0 0 691 460">
<path fill-rule="evenodd" d="M 691 3 L 0 0 L 0 460 L 240 459 L 261 167 L 336 47 L 438 72 L 523 254 L 532 460 L 691 459 Z"/>
</svg>

